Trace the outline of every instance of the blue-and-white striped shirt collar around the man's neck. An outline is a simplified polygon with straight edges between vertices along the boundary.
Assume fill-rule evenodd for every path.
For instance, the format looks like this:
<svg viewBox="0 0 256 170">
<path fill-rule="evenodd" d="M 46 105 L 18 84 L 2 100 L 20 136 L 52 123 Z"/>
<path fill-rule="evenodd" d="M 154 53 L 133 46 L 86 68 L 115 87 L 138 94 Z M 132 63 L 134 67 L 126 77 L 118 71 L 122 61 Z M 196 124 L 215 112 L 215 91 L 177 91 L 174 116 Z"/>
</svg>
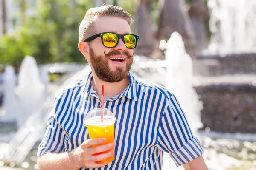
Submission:
<svg viewBox="0 0 256 170">
<path fill-rule="evenodd" d="M 127 88 L 125 88 L 125 90 L 121 94 L 118 94 L 118 95 L 116 95 L 116 97 L 111 98 L 111 99 L 121 98 L 123 95 L 125 95 L 129 99 L 132 99 L 135 101 L 138 100 L 136 79 L 130 72 L 129 72 L 128 76 L 130 79 L 130 84 L 127 86 Z M 95 96 L 96 92 L 93 90 L 92 81 L 93 81 L 93 74 L 92 74 L 92 72 L 90 72 L 90 74 L 87 77 L 87 80 L 84 82 L 84 85 L 85 85 L 84 91 L 90 95 Z"/>
</svg>

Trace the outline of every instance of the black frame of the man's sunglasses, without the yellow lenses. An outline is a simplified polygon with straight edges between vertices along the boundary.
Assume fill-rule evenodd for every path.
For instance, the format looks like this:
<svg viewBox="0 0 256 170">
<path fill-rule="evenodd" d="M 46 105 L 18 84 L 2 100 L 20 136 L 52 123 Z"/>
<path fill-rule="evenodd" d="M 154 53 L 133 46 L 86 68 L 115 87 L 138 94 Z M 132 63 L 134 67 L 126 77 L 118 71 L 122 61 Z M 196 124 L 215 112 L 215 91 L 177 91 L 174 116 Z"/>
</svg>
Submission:
<svg viewBox="0 0 256 170">
<path fill-rule="evenodd" d="M 123 34 L 123 35 L 121 35 L 121 34 L 116 34 L 116 33 L 114 33 L 114 32 L 102 32 L 102 33 L 99 33 L 99 34 L 95 34 L 95 35 L 93 35 L 93 36 L 91 36 L 91 37 L 85 39 L 84 42 L 90 42 L 90 41 L 92 41 L 92 40 L 94 40 L 94 39 L 96 39 L 96 38 L 98 38 L 98 37 L 101 37 L 101 39 L 102 39 L 102 44 L 104 45 L 104 42 L 103 42 L 103 35 L 106 34 L 106 33 L 112 33 L 112 34 L 117 35 L 118 39 L 117 39 L 116 45 L 119 43 L 120 38 L 122 38 L 122 41 L 123 41 L 124 44 L 125 44 L 125 40 L 124 40 L 125 35 L 133 35 L 133 36 L 136 38 L 136 44 L 135 44 L 134 48 L 136 48 L 136 46 L 137 46 L 139 36 L 137 36 L 137 35 L 135 35 L 135 34 Z M 108 47 L 108 48 L 114 48 L 114 47 L 116 47 L 116 45 L 113 46 L 113 47 Z M 105 45 L 104 45 L 104 46 L 105 46 Z M 125 45 L 125 46 L 126 46 L 126 45 Z M 105 46 L 105 47 L 107 47 L 107 46 Z M 126 48 L 128 48 L 128 47 L 126 46 Z M 134 49 L 134 48 L 129 48 L 129 49 Z"/>
</svg>

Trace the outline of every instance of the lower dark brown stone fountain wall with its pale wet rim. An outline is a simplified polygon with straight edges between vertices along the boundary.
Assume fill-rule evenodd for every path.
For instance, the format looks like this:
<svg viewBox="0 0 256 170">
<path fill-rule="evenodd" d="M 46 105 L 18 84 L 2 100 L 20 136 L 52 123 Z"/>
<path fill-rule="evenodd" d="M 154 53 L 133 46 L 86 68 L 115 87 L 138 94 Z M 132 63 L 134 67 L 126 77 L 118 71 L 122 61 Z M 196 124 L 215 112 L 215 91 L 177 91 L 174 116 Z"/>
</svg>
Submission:
<svg viewBox="0 0 256 170">
<path fill-rule="evenodd" d="M 204 102 L 201 111 L 204 128 L 230 133 L 256 132 L 256 76 L 247 82 L 241 78 L 207 79 L 209 84 L 195 87 Z"/>
</svg>

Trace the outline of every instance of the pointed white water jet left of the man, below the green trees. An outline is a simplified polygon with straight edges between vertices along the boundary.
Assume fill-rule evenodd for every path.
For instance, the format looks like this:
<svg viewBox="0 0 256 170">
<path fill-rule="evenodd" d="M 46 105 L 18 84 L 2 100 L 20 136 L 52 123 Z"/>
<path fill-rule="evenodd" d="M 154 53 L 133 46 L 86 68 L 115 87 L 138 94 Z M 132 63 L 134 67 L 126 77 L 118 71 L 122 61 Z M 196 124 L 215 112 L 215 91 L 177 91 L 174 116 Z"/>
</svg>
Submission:
<svg viewBox="0 0 256 170">
<path fill-rule="evenodd" d="M 32 113 L 38 111 L 44 100 L 44 85 L 40 79 L 37 63 L 31 56 L 26 56 L 21 63 L 17 96 L 20 108 L 17 124 L 21 127 Z"/>
</svg>

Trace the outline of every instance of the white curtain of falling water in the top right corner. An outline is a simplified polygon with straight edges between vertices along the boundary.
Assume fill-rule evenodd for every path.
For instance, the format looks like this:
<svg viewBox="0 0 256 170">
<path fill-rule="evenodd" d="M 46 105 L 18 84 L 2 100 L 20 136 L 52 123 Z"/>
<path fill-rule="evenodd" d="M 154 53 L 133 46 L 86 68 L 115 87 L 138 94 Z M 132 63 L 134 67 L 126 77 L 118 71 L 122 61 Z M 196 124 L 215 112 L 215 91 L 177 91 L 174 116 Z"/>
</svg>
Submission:
<svg viewBox="0 0 256 170">
<path fill-rule="evenodd" d="M 256 1 L 208 0 L 212 32 L 209 53 L 256 52 Z"/>
</svg>

